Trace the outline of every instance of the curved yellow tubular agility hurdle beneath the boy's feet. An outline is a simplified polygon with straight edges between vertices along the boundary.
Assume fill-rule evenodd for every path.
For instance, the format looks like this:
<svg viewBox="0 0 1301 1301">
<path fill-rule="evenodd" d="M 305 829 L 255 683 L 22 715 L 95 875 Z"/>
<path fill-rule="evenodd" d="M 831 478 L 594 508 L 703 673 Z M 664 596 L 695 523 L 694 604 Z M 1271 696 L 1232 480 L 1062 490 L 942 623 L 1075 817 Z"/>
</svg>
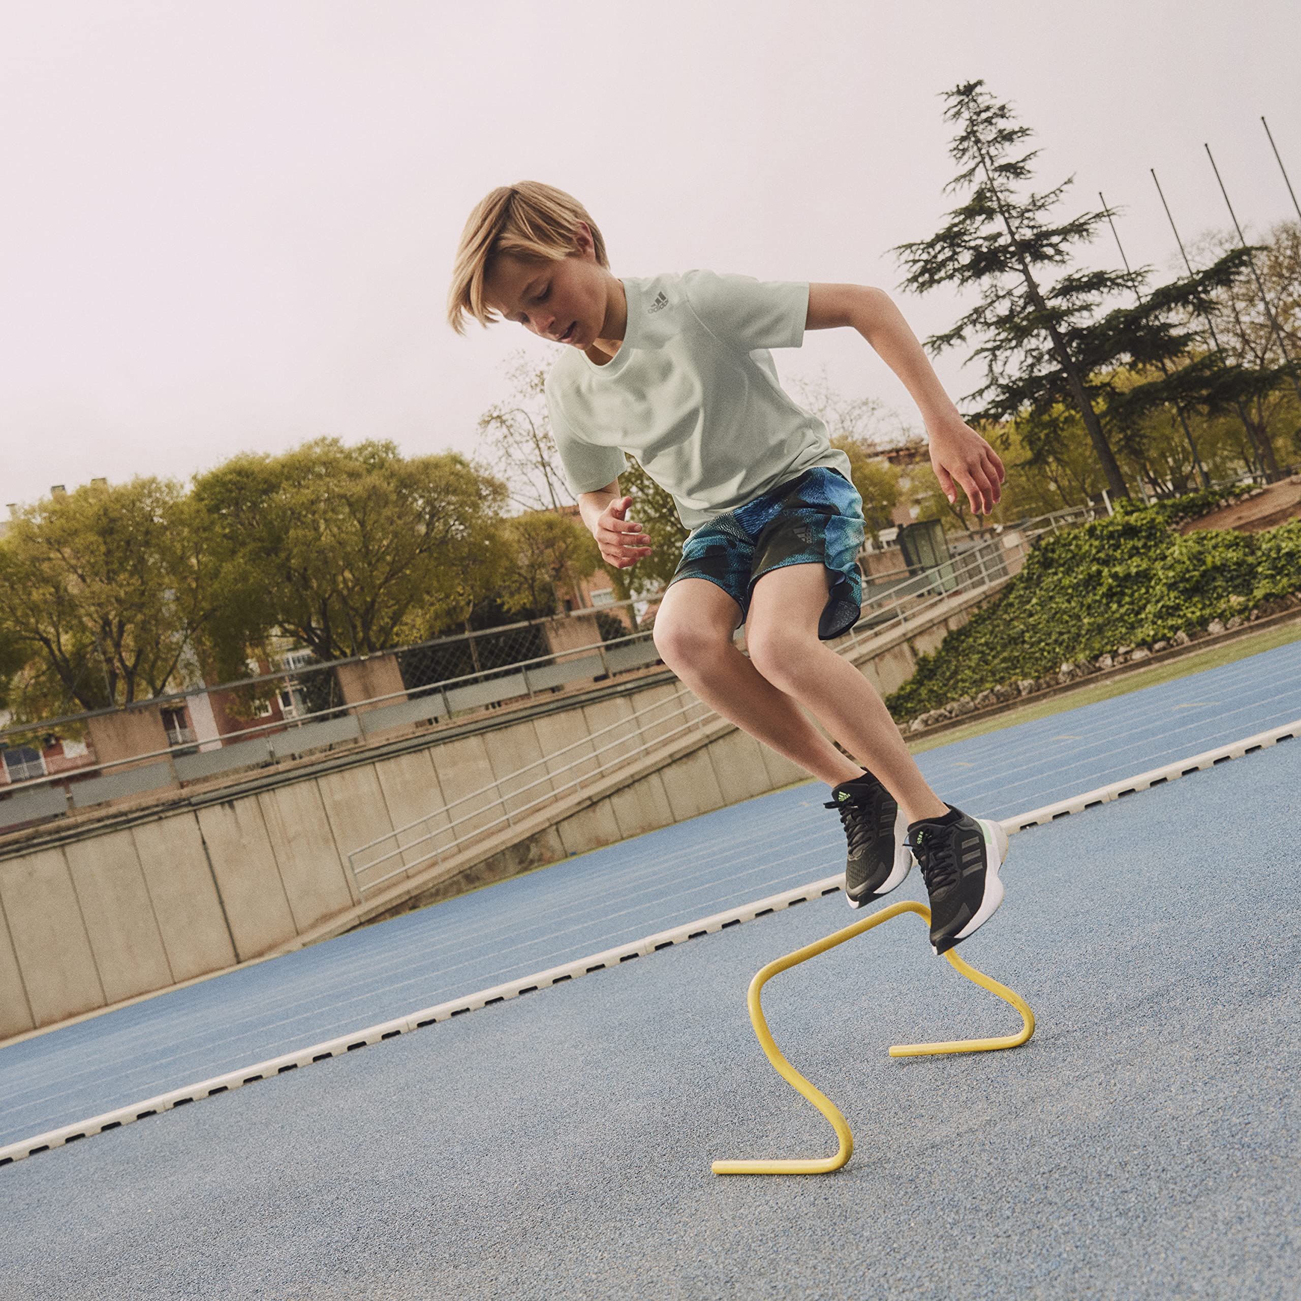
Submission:
<svg viewBox="0 0 1301 1301">
<path fill-rule="evenodd" d="M 851 1155 L 853 1155 L 853 1134 L 850 1132 L 850 1127 L 846 1123 L 844 1116 L 840 1115 L 839 1108 L 830 1098 L 824 1093 L 820 1093 L 808 1080 L 804 1079 L 790 1062 L 782 1056 L 782 1050 L 773 1042 L 773 1036 L 769 1033 L 768 1021 L 764 1020 L 764 1008 L 760 1003 L 760 993 L 764 985 L 768 984 L 778 972 L 783 972 L 790 967 L 798 967 L 800 963 L 807 963 L 811 958 L 817 958 L 818 954 L 825 954 L 829 948 L 835 948 L 837 945 L 843 945 L 847 939 L 853 939 L 855 935 L 861 935 L 865 930 L 870 930 L 873 926 L 879 926 L 881 922 L 889 921 L 891 917 L 898 917 L 904 912 L 915 912 L 926 925 L 930 925 L 930 909 L 921 903 L 913 903 L 912 900 L 904 900 L 903 903 L 892 903 L 887 908 L 882 908 L 879 912 L 872 913 L 870 917 L 864 917 L 863 921 L 856 921 L 851 926 L 846 926 L 843 930 L 837 930 L 827 935 L 826 939 L 814 941 L 812 945 L 805 945 L 803 948 L 796 948 L 794 954 L 787 954 L 785 958 L 778 958 L 775 961 L 769 963 L 764 967 L 755 978 L 749 982 L 749 1019 L 755 1026 L 755 1036 L 758 1038 L 760 1047 L 768 1055 L 768 1060 L 773 1063 L 773 1068 L 778 1075 L 798 1093 L 808 1098 L 818 1111 L 831 1123 L 831 1128 L 835 1131 L 837 1138 L 840 1141 L 840 1150 L 834 1157 L 822 1158 L 769 1158 L 766 1160 L 716 1160 L 713 1163 L 713 1172 L 716 1175 L 827 1175 L 833 1170 L 839 1170 Z M 984 972 L 976 971 L 974 967 L 964 963 L 954 950 L 948 950 L 945 954 L 950 964 L 969 981 L 974 981 L 977 985 L 984 986 L 991 994 L 997 994 L 1004 1003 L 1011 1003 L 1012 1007 L 1021 1013 L 1021 1029 L 1016 1034 L 1004 1034 L 998 1038 L 991 1039 L 955 1039 L 948 1043 L 896 1043 L 890 1049 L 891 1056 L 925 1056 L 928 1054 L 938 1053 L 991 1053 L 995 1049 L 1015 1049 L 1024 1043 L 1034 1033 L 1034 1013 L 1030 1011 L 1029 1004 L 1017 994 L 1015 990 L 1008 989 L 1006 985 L 999 985 L 997 980 L 990 980 Z"/>
</svg>

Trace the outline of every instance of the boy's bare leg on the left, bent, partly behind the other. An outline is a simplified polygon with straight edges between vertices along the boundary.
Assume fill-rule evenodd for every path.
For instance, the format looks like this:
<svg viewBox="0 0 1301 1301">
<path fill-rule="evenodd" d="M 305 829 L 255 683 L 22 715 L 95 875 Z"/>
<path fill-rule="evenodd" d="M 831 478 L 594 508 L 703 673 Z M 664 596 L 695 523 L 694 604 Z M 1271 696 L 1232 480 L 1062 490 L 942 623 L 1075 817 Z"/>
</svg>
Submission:
<svg viewBox="0 0 1301 1301">
<path fill-rule="evenodd" d="M 826 604 L 825 587 L 822 604 Z M 861 769 L 809 722 L 804 710 L 740 653 L 732 643 L 739 619 L 740 606 L 717 583 L 679 579 L 660 602 L 654 644 L 664 662 L 696 696 L 751 736 L 829 786 L 861 777 Z M 813 627 L 817 628 L 817 614 Z M 839 658 L 834 652 L 827 653 Z M 846 667 L 866 687 L 852 667 Z M 898 736 L 892 722 L 890 730 Z"/>
</svg>

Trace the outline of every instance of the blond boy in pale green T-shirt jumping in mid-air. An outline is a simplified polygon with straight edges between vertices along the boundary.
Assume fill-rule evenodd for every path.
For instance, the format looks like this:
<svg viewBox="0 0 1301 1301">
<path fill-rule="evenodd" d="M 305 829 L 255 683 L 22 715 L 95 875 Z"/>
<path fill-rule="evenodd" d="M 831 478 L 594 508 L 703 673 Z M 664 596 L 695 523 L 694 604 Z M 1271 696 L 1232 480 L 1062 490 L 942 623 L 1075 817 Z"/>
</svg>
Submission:
<svg viewBox="0 0 1301 1301">
<path fill-rule="evenodd" d="M 712 709 L 831 787 L 853 908 L 908 876 L 930 895 L 930 942 L 952 948 L 1003 899 L 1007 837 L 926 785 L 885 703 L 830 647 L 860 613 L 861 498 L 850 459 L 782 389 L 769 349 L 853 327 L 899 376 L 950 501 L 989 514 L 1003 463 L 964 424 L 879 289 L 688 271 L 615 278 L 596 222 L 553 186 L 501 186 L 470 215 L 448 320 L 518 321 L 567 351 L 546 380 L 552 431 L 584 524 L 619 569 L 649 554 L 626 518 L 631 451 L 692 530 L 654 622 L 666 665 Z M 956 485 L 956 487 L 955 487 Z M 732 643 L 747 624 L 747 658 Z M 844 757 L 808 709 L 866 766 Z"/>
</svg>

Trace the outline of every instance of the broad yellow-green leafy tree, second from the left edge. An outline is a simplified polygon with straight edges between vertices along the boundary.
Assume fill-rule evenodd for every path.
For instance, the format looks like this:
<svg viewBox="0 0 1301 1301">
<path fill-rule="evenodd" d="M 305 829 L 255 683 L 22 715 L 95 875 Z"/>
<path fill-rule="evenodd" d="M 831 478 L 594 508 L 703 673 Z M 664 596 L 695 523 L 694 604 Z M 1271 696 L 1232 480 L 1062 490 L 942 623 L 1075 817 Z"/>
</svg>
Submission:
<svg viewBox="0 0 1301 1301">
<path fill-rule="evenodd" d="M 234 558 L 243 622 L 320 660 L 369 654 L 463 622 L 507 561 L 503 485 L 463 457 L 316 438 L 199 476 L 198 506 Z"/>
</svg>

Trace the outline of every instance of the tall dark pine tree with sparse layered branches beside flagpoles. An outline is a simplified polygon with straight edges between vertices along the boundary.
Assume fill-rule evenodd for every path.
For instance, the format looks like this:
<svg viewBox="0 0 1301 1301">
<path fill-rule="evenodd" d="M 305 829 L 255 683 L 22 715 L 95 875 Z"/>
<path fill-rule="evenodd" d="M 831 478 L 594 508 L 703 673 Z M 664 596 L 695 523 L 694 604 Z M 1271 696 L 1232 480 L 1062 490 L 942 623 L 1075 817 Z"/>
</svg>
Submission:
<svg viewBox="0 0 1301 1301">
<path fill-rule="evenodd" d="M 1170 406 L 1216 414 L 1279 382 L 1272 371 L 1226 364 L 1190 328 L 1214 295 L 1245 273 L 1246 250 L 1151 291 L 1145 268 L 1080 268 L 1079 246 L 1115 211 L 1103 207 L 1054 221 L 1051 209 L 1071 180 L 1042 194 L 1024 193 L 1038 151 L 1021 152 L 1033 133 L 1016 122 L 1011 107 L 997 101 L 981 81 L 956 86 L 945 99 L 946 121 L 959 126 L 950 154 L 963 168 L 946 190 L 969 194 L 935 235 L 895 252 L 908 272 L 908 289 L 980 288 L 976 307 L 951 330 L 928 340 L 937 351 L 977 343 L 974 356 L 985 360 L 986 382 L 968 399 L 981 403 L 973 419 L 1021 420 L 1032 459 L 1038 459 L 1051 453 L 1062 436 L 1063 411 L 1073 407 L 1107 487 L 1125 496 L 1112 440 L 1141 461 L 1141 431 L 1153 411 Z M 1108 308 L 1121 293 L 1137 303 Z"/>
</svg>

